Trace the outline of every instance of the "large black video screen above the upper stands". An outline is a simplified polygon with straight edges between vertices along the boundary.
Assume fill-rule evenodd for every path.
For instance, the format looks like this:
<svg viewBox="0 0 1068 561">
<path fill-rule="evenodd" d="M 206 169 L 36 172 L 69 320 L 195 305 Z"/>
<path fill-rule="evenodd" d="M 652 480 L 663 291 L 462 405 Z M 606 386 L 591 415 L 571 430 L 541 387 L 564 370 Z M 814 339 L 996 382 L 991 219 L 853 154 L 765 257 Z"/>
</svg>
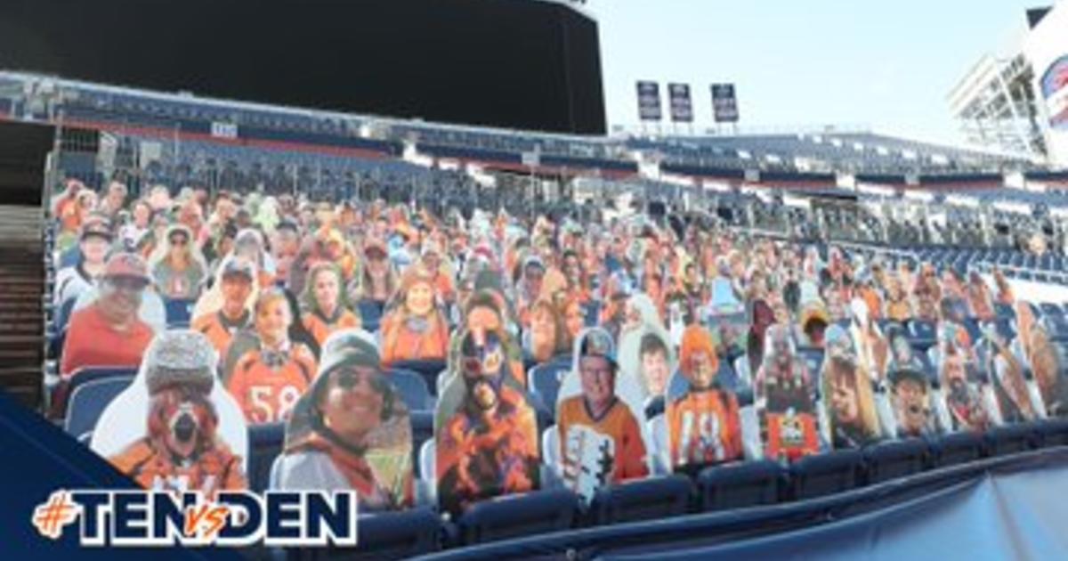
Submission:
<svg viewBox="0 0 1068 561">
<path fill-rule="evenodd" d="M 604 133 L 596 21 L 534 0 L 11 0 L 0 67 L 426 121 Z"/>
</svg>

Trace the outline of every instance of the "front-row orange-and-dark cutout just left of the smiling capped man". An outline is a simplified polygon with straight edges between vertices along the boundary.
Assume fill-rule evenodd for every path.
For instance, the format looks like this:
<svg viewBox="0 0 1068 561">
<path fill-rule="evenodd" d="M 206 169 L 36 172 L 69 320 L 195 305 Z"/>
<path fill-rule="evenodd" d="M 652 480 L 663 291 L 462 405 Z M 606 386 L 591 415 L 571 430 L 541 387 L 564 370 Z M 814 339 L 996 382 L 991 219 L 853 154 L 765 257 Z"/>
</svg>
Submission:
<svg viewBox="0 0 1068 561">
<path fill-rule="evenodd" d="M 442 510 L 540 487 L 534 407 L 508 372 L 497 331 L 466 331 L 435 417 L 436 481 Z"/>
</svg>

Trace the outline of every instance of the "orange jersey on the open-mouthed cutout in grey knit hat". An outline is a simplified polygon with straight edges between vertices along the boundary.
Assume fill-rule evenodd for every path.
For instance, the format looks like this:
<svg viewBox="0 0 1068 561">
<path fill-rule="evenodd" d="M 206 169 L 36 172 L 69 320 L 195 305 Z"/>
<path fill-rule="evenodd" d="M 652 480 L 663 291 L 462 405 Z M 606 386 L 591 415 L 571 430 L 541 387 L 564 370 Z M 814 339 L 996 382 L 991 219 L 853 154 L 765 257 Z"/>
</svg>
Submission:
<svg viewBox="0 0 1068 561">
<path fill-rule="evenodd" d="M 241 458 L 230 448 L 216 443 L 203 452 L 191 466 L 176 465 L 170 454 L 142 438 L 117 455 L 108 458 L 111 465 L 146 489 L 204 493 L 213 498 L 220 490 L 244 490 L 249 487 L 241 473 Z"/>
</svg>

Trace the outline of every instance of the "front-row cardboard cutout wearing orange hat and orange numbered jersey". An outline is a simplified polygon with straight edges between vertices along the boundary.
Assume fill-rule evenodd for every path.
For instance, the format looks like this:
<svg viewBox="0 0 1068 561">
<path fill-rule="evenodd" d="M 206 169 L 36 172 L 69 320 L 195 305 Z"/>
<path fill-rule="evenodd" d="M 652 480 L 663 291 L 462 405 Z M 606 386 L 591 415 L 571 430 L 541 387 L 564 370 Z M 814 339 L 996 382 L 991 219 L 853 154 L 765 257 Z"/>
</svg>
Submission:
<svg viewBox="0 0 1068 561">
<path fill-rule="evenodd" d="M 675 470 L 741 459 L 737 396 L 720 385 L 711 333 L 691 325 L 682 333 L 679 371 L 665 393 L 669 457 Z"/>
</svg>

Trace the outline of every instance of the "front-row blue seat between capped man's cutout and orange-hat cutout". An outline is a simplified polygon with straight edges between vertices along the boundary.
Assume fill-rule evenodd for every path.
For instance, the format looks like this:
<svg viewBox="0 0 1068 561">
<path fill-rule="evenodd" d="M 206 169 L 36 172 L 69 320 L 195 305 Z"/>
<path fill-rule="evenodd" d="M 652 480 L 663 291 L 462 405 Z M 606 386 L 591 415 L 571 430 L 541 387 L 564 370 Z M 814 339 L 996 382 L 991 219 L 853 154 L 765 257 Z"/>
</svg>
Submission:
<svg viewBox="0 0 1068 561">
<path fill-rule="evenodd" d="M 635 480 L 597 489 L 586 511 L 586 523 L 601 526 L 655 520 L 686 514 L 693 485 L 686 476 Z"/>
</svg>

